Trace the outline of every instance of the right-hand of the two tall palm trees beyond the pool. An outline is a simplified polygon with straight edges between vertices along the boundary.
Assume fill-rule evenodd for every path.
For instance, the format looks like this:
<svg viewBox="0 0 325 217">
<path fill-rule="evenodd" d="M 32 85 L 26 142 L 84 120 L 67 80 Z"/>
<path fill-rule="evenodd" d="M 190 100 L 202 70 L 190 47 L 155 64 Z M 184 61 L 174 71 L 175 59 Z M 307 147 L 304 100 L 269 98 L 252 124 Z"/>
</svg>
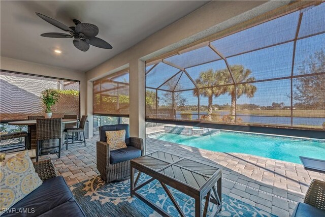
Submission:
<svg viewBox="0 0 325 217">
<path fill-rule="evenodd" d="M 249 69 L 245 69 L 241 65 L 230 66 L 230 69 L 232 71 L 232 75 L 236 83 L 251 82 L 255 80 L 254 77 L 249 77 L 251 71 Z M 234 83 L 228 70 L 220 70 L 219 73 L 222 73 L 223 75 L 222 81 L 224 82 L 224 84 Z M 228 92 L 229 95 L 232 97 L 231 114 L 233 115 L 233 117 L 235 116 L 236 95 L 237 99 L 239 99 L 242 95 L 246 95 L 248 98 L 252 98 L 254 97 L 256 89 L 256 86 L 250 83 L 237 84 L 236 92 L 235 85 L 224 86 L 224 92 Z"/>
</svg>

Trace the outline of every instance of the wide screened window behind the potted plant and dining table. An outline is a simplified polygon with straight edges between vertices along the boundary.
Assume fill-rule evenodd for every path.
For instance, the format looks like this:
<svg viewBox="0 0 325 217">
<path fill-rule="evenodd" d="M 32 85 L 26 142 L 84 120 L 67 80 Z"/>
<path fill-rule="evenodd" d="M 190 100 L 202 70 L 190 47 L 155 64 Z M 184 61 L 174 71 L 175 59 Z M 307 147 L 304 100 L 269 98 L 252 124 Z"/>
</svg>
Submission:
<svg viewBox="0 0 325 217">
<path fill-rule="evenodd" d="M 41 92 L 50 88 L 56 89 L 60 95 L 59 101 L 52 106 L 53 117 L 79 114 L 79 81 L 1 70 L 0 88 L 1 122 L 43 115 L 45 107 L 40 99 Z"/>
</svg>

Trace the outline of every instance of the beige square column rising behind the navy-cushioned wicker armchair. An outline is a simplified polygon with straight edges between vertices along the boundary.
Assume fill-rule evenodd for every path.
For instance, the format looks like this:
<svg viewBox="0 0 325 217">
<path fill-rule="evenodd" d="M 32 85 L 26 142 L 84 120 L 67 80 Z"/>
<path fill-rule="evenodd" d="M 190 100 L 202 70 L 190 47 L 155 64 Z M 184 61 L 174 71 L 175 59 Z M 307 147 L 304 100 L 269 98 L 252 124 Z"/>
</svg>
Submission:
<svg viewBox="0 0 325 217">
<path fill-rule="evenodd" d="M 146 138 L 145 120 L 145 64 L 139 59 L 129 63 L 130 80 L 130 136 Z M 145 144 L 144 144 L 144 147 Z"/>
</svg>

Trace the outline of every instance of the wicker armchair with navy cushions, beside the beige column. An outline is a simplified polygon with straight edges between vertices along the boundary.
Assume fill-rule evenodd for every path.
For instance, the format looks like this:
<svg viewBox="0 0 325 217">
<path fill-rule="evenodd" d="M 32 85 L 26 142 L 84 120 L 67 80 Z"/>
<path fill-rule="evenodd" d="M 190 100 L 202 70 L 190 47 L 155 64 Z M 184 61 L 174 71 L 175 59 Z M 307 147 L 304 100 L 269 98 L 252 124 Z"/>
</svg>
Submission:
<svg viewBox="0 0 325 217">
<path fill-rule="evenodd" d="M 106 143 L 106 131 L 116 131 L 125 130 L 125 143 L 127 148 L 122 148 L 118 150 L 110 151 Z M 130 158 L 122 162 L 112 162 L 113 156 L 118 158 L 118 154 L 127 155 L 127 151 L 141 151 L 141 154 L 136 156 L 144 156 L 143 139 L 138 137 L 129 137 L 129 126 L 123 125 L 106 125 L 99 129 L 100 131 L 100 141 L 96 142 L 97 151 L 97 169 L 101 174 L 102 179 L 105 182 L 120 181 L 125 180 L 130 176 L 130 160 L 134 158 L 135 155 L 129 155 Z"/>
</svg>

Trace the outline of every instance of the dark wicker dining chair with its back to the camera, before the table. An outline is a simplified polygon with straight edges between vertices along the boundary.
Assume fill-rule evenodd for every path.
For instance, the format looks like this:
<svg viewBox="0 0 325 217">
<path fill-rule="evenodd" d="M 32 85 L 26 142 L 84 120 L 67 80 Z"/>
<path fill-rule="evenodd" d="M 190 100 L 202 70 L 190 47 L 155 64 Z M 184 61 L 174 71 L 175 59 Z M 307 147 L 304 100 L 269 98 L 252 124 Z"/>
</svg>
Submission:
<svg viewBox="0 0 325 217">
<path fill-rule="evenodd" d="M 61 157 L 61 123 L 61 118 L 36 119 L 36 162 L 40 154 L 58 153 L 58 157 Z"/>
</svg>

